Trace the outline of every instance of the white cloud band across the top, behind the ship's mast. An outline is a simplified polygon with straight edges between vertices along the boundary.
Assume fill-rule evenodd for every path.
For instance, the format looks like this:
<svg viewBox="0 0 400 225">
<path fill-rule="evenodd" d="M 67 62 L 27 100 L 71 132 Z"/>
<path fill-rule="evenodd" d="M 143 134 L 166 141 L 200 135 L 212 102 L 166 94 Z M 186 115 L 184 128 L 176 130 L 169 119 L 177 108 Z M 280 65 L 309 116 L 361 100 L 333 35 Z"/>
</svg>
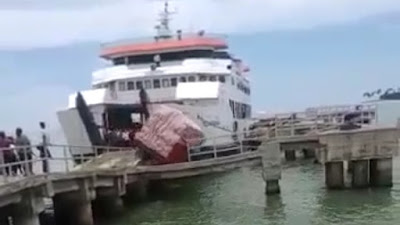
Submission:
<svg viewBox="0 0 400 225">
<path fill-rule="evenodd" d="M 35 1 L 36 6 L 25 2 L 1 7 L 0 48 L 152 35 L 162 8 L 162 2 L 149 0 L 62 2 L 41 0 Z M 174 27 L 218 33 L 307 29 L 400 10 L 398 0 L 176 0 L 171 6 L 179 11 Z"/>
</svg>

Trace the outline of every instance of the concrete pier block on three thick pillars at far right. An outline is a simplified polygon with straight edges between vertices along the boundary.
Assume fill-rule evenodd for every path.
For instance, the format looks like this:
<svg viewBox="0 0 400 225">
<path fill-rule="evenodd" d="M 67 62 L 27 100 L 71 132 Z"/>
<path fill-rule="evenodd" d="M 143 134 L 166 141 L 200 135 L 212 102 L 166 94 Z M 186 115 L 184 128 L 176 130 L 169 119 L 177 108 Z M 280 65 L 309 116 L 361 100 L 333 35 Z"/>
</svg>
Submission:
<svg viewBox="0 0 400 225">
<path fill-rule="evenodd" d="M 319 160 L 325 163 L 328 188 L 341 187 L 343 163 L 348 162 L 349 187 L 392 185 L 392 157 L 399 149 L 397 127 L 365 127 L 335 130 L 319 135 Z M 347 187 L 346 182 L 346 187 Z"/>
</svg>

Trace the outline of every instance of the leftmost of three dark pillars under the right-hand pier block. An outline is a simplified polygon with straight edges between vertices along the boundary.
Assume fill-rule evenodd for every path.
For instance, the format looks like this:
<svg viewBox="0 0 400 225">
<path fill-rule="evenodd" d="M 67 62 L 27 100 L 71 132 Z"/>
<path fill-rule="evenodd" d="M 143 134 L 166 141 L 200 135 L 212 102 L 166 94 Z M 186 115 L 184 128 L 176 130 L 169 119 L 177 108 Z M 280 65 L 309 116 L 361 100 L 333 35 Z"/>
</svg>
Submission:
<svg viewBox="0 0 400 225">
<path fill-rule="evenodd" d="M 325 184 L 330 189 L 344 187 L 343 162 L 325 162 Z"/>
</svg>

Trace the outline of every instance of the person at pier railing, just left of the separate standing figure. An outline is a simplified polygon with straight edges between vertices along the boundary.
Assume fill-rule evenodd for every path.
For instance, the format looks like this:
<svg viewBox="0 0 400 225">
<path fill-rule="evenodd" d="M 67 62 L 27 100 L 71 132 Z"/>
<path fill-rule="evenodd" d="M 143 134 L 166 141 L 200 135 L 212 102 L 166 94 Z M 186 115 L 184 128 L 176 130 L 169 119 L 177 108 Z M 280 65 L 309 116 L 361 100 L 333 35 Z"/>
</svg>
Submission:
<svg viewBox="0 0 400 225">
<path fill-rule="evenodd" d="M 21 170 L 25 176 L 31 175 L 33 174 L 31 141 L 19 127 L 15 130 L 15 136 L 15 146 L 17 147 L 19 161 L 28 161 L 22 165 Z"/>
</svg>

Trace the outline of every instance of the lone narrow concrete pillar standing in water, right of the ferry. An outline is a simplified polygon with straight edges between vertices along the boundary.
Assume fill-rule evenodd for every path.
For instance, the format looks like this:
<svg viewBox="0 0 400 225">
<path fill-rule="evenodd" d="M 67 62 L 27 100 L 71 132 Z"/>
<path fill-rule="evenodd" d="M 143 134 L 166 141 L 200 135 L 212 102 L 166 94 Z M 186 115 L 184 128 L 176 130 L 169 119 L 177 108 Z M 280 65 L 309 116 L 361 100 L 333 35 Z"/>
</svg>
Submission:
<svg viewBox="0 0 400 225">
<path fill-rule="evenodd" d="M 263 178 L 266 183 L 265 194 L 272 195 L 280 193 L 279 180 L 281 179 L 281 148 L 278 142 L 263 141 L 259 147 Z"/>
</svg>

